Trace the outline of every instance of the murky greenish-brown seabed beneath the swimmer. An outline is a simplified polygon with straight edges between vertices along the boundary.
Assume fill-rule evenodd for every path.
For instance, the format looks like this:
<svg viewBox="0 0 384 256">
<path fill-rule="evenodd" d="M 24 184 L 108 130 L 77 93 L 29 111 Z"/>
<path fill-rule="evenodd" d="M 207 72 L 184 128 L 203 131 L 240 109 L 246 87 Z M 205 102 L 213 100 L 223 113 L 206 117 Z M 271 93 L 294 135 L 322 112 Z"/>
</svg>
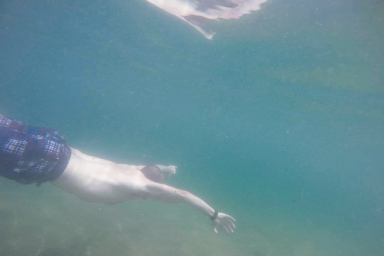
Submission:
<svg viewBox="0 0 384 256">
<path fill-rule="evenodd" d="M 209 219 L 183 204 L 103 205 L 48 183 L 37 188 L 3 179 L 0 185 L 4 256 L 361 255 L 356 244 L 310 221 L 300 226 L 284 216 L 244 211 L 235 216 L 234 234 L 215 234 Z"/>
</svg>

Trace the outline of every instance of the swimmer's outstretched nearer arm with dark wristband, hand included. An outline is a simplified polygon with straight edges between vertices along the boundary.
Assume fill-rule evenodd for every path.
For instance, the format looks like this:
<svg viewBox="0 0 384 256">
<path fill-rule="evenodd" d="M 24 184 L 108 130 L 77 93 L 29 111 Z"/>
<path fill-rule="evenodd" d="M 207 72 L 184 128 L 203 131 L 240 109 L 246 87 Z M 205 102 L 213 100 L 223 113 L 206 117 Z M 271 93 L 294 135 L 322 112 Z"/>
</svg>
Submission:
<svg viewBox="0 0 384 256">
<path fill-rule="evenodd" d="M 145 194 L 147 197 L 163 202 L 184 202 L 210 217 L 213 221 L 214 232 L 217 233 L 216 227 L 221 225 L 227 233 L 233 233 L 233 228 L 235 228 L 235 225 L 233 224 L 233 221 L 235 221 L 234 218 L 225 213 L 216 212 L 206 202 L 188 191 L 177 189 L 165 184 L 148 182 L 145 185 Z"/>
</svg>

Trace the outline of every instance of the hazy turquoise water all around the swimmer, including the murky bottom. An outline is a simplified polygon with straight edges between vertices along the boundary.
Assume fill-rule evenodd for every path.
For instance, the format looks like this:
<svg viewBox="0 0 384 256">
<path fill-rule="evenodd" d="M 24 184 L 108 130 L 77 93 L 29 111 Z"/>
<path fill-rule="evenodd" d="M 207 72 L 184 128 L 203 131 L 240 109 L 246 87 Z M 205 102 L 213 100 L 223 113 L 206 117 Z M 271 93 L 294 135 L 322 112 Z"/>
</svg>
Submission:
<svg viewBox="0 0 384 256">
<path fill-rule="evenodd" d="M 139 0 L 1 1 L 0 113 L 173 164 L 187 205 L 0 179 L 0 255 L 383 255 L 384 2 L 273 0 L 207 40 Z"/>
</svg>

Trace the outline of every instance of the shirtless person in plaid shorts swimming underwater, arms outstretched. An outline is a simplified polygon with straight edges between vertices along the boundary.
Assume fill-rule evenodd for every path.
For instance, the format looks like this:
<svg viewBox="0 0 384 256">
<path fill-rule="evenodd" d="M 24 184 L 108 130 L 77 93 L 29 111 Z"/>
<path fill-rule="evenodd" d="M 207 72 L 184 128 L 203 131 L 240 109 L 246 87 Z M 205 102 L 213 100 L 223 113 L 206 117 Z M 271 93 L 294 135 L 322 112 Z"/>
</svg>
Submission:
<svg viewBox="0 0 384 256">
<path fill-rule="evenodd" d="M 233 233 L 234 218 L 218 212 L 199 197 L 163 184 L 163 173 L 176 166 L 128 165 L 86 155 L 66 144 L 56 131 L 34 127 L 0 114 L 0 175 L 22 184 L 49 181 L 83 201 L 116 204 L 152 198 L 186 203 L 207 215 L 213 231 Z"/>
</svg>

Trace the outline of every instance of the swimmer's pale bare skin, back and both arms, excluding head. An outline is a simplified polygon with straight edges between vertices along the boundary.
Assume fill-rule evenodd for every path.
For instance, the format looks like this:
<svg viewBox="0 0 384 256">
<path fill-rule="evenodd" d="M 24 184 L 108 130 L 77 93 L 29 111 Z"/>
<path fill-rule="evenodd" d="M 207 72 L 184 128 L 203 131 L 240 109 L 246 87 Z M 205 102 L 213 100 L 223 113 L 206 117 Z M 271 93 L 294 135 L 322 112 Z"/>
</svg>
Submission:
<svg viewBox="0 0 384 256">
<path fill-rule="evenodd" d="M 209 217 L 213 215 L 214 209 L 199 197 L 147 179 L 140 171 L 144 166 L 117 164 L 72 148 L 66 169 L 51 182 L 87 202 L 116 204 L 152 198 L 169 203 L 183 202 Z M 174 174 L 177 169 L 173 165 L 157 166 L 169 175 Z M 231 216 L 218 212 L 213 220 L 213 231 L 217 233 L 217 226 L 221 226 L 227 233 L 233 233 L 234 221 Z"/>
</svg>

